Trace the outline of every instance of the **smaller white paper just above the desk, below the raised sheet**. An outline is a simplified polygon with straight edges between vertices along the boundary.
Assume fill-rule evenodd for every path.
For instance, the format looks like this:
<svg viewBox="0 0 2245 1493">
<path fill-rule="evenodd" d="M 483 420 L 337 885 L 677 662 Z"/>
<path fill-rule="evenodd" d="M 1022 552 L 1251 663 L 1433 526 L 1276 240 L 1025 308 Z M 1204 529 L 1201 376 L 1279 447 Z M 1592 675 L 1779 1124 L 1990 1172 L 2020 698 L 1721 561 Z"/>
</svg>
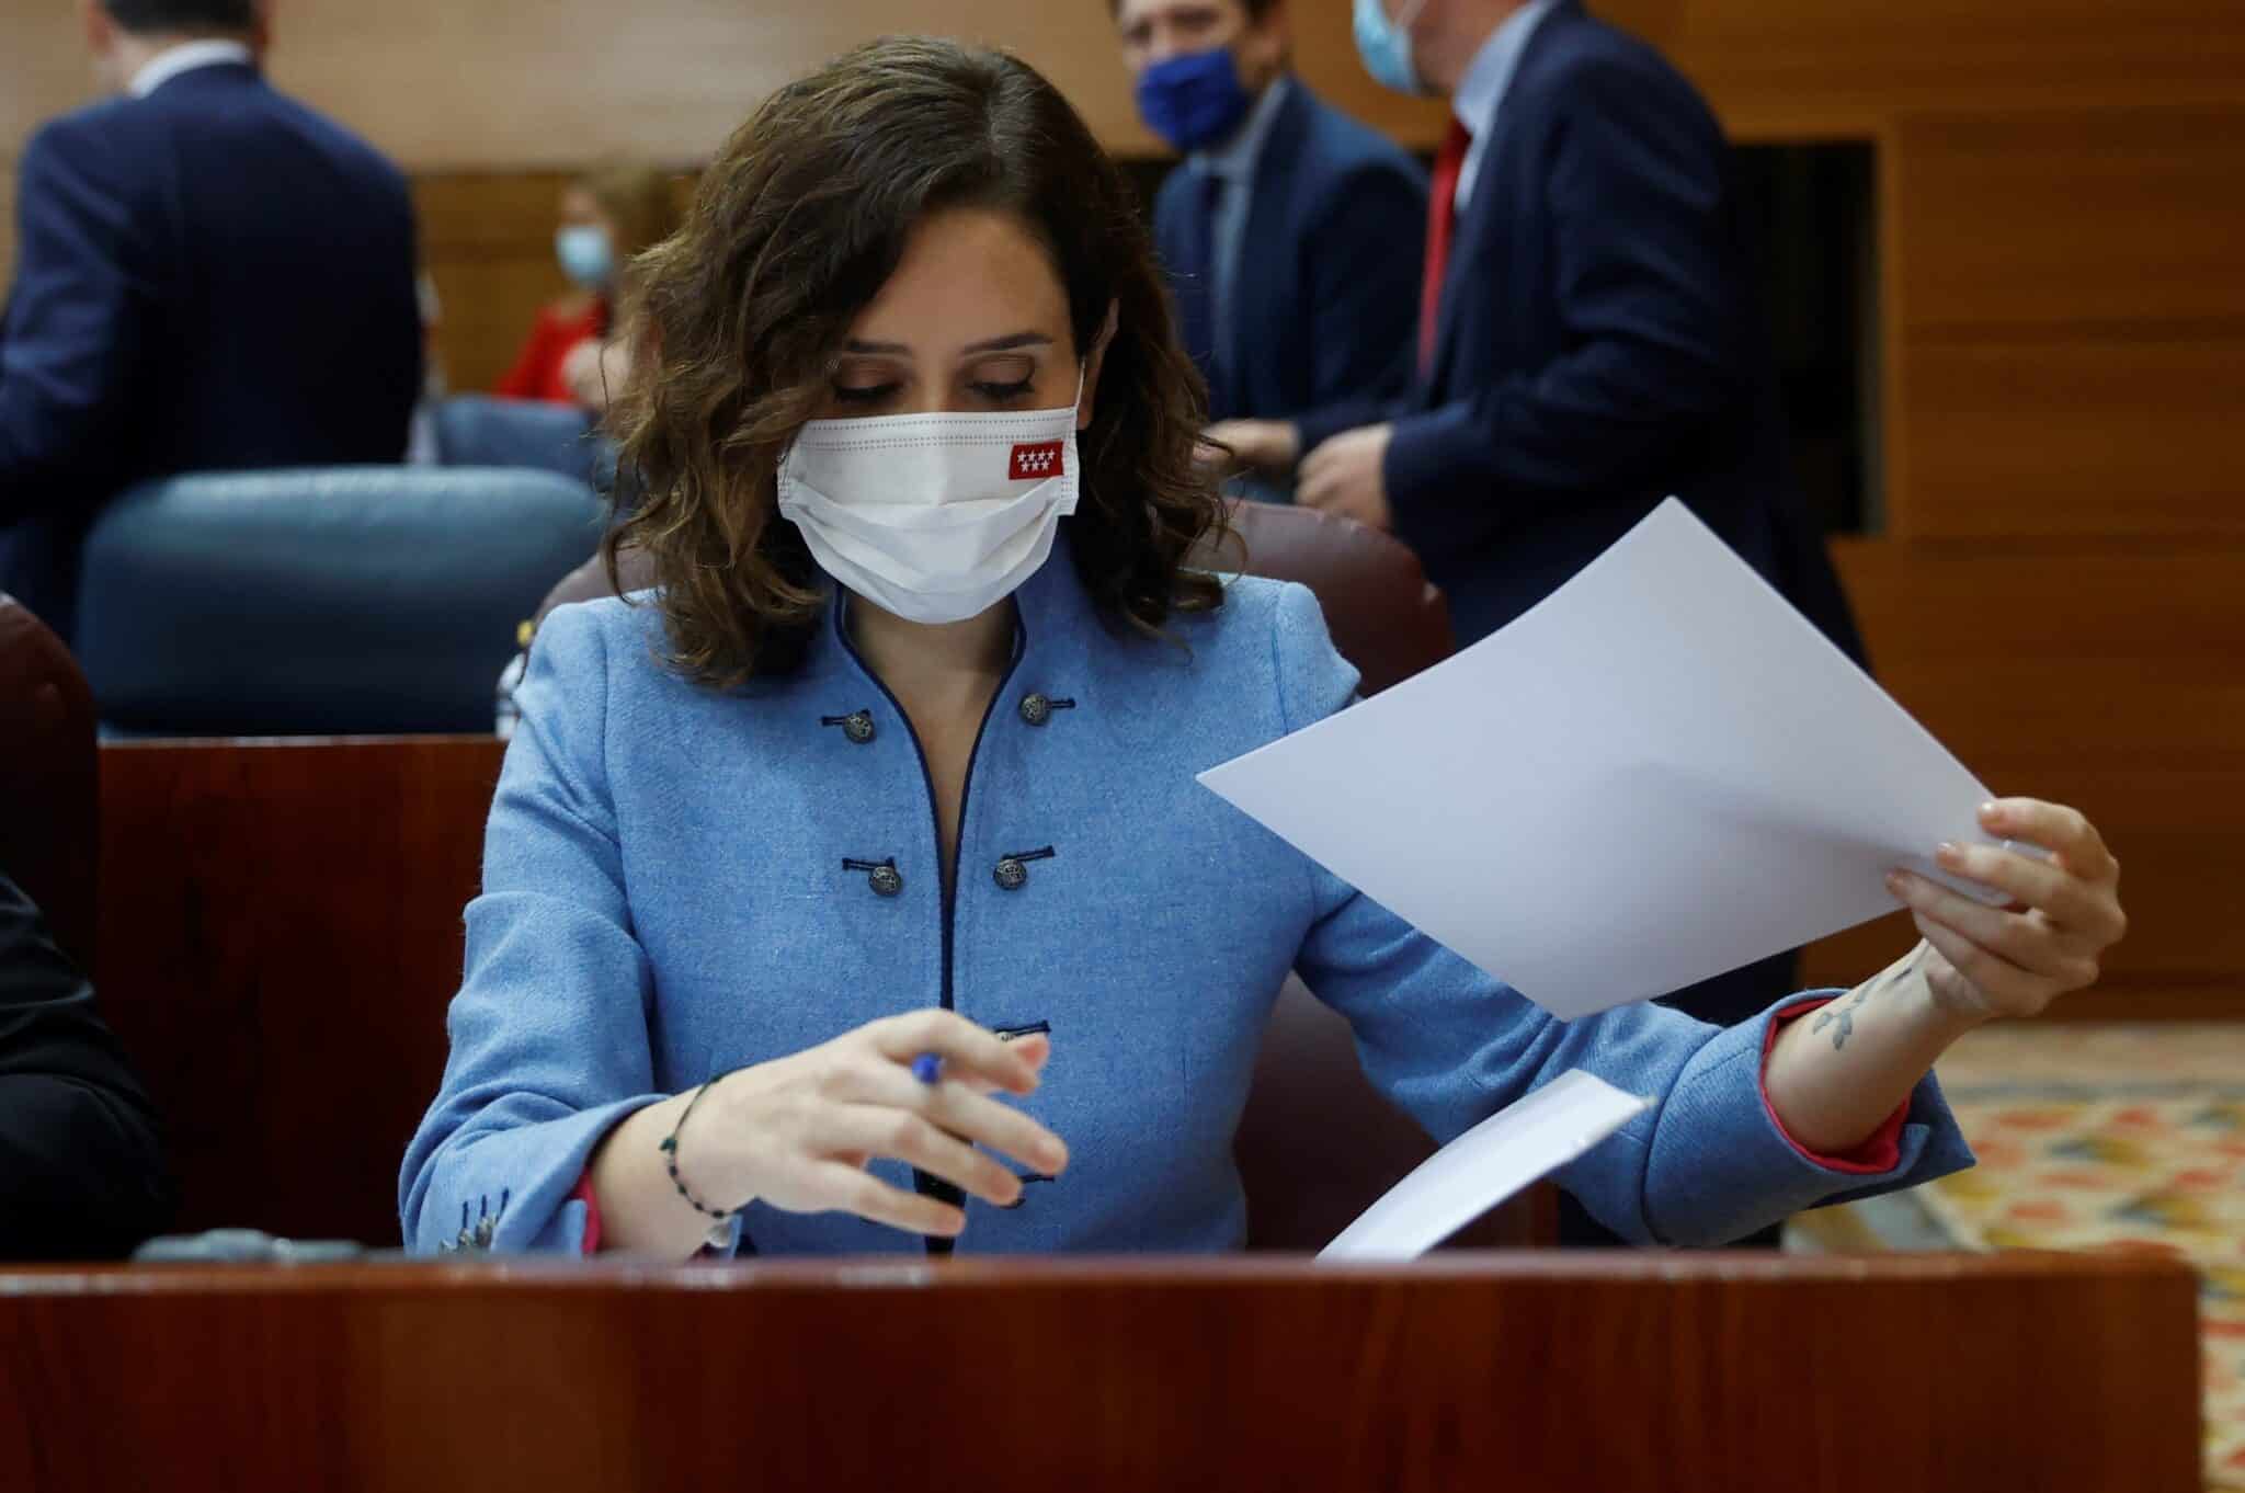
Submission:
<svg viewBox="0 0 2245 1493">
<path fill-rule="evenodd" d="M 1652 1100 L 1569 1069 L 1421 1161 L 1318 1260 L 1417 1260 L 1650 1107 Z"/>
</svg>

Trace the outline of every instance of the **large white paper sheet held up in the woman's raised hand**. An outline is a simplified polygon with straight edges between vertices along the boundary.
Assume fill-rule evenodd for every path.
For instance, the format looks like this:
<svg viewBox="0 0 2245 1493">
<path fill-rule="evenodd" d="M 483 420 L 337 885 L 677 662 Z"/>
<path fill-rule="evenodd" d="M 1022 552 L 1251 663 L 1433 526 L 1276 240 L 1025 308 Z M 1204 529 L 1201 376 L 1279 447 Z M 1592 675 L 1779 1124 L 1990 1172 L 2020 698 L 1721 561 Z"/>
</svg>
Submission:
<svg viewBox="0 0 2245 1493">
<path fill-rule="evenodd" d="M 1893 912 L 1886 871 L 1987 842 L 1989 797 L 1675 498 L 1493 638 L 1201 781 L 1560 1017 Z"/>
</svg>

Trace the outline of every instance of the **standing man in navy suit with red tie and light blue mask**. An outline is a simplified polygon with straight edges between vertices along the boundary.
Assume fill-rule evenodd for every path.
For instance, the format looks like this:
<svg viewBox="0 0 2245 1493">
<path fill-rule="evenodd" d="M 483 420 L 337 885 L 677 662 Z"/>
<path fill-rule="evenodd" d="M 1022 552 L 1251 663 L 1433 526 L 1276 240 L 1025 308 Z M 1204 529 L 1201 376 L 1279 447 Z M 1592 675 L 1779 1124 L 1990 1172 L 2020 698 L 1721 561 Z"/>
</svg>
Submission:
<svg viewBox="0 0 2245 1493">
<path fill-rule="evenodd" d="M 1578 0 L 1363 0 L 1383 83 L 1448 94 L 1419 382 L 1262 440 L 1302 501 L 1392 528 L 1459 638 L 1677 494 L 1861 653 L 1787 460 L 1729 146 L 1657 52 Z"/>
</svg>

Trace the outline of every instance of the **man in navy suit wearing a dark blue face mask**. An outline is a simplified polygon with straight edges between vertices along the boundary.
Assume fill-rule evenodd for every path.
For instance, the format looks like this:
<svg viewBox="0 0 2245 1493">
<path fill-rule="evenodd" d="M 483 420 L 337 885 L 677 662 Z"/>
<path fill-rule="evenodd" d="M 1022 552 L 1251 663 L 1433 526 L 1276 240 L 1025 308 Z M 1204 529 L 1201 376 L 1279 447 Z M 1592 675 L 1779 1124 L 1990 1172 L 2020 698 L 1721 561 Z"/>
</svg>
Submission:
<svg viewBox="0 0 2245 1493">
<path fill-rule="evenodd" d="M 1185 155 L 1154 204 L 1212 436 L 1410 386 L 1426 180 L 1289 70 L 1284 0 L 1111 0 L 1138 115 Z M 1291 465 L 1284 462 L 1284 465 Z M 1255 483 L 1284 496 L 1282 483 Z"/>
</svg>

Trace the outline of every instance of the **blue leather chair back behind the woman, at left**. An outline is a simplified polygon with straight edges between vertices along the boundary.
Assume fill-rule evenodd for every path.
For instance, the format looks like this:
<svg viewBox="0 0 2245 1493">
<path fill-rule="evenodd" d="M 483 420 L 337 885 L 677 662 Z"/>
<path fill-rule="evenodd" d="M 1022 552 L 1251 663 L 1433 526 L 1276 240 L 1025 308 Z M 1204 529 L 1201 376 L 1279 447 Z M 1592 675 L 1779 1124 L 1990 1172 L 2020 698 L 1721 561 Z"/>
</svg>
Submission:
<svg viewBox="0 0 2245 1493">
<path fill-rule="evenodd" d="M 88 534 L 79 658 L 130 734 L 489 732 L 516 626 L 599 523 L 528 469 L 153 483 Z"/>
</svg>

